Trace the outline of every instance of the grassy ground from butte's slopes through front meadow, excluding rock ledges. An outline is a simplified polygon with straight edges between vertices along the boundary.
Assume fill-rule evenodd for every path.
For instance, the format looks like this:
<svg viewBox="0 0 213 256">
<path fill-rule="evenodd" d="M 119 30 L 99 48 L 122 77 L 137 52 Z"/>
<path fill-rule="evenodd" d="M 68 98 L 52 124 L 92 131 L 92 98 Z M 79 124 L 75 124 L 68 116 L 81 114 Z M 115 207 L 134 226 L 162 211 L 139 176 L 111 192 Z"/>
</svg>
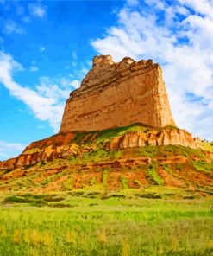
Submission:
<svg viewBox="0 0 213 256">
<path fill-rule="evenodd" d="M 0 255 L 211 255 L 212 145 L 106 150 L 129 131 L 156 130 L 56 135 L 23 154 L 69 154 L 1 170 Z"/>
</svg>

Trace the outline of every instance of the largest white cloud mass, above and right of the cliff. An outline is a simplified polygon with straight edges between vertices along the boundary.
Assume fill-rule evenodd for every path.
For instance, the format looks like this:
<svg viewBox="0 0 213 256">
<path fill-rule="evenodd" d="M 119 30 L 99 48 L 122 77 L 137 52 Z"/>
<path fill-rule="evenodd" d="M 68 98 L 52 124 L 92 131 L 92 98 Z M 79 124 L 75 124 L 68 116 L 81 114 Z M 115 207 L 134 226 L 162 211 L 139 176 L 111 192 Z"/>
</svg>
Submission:
<svg viewBox="0 0 213 256">
<path fill-rule="evenodd" d="M 146 0 L 128 3 L 117 25 L 91 45 L 99 54 L 150 59 L 163 67 L 177 125 L 213 139 L 213 3 L 207 0 Z"/>
</svg>

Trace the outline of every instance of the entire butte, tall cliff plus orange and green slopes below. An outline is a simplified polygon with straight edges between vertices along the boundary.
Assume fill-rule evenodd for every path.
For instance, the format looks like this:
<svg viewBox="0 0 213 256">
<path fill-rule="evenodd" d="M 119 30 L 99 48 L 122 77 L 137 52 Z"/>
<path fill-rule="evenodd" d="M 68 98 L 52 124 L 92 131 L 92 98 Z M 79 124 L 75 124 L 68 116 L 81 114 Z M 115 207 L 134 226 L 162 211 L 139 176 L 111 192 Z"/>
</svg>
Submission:
<svg viewBox="0 0 213 256">
<path fill-rule="evenodd" d="M 212 171 L 213 145 L 174 123 L 160 65 L 101 55 L 67 99 L 60 132 L 0 162 L 0 190 L 150 196 L 157 186 L 187 198 L 212 195 Z"/>
</svg>

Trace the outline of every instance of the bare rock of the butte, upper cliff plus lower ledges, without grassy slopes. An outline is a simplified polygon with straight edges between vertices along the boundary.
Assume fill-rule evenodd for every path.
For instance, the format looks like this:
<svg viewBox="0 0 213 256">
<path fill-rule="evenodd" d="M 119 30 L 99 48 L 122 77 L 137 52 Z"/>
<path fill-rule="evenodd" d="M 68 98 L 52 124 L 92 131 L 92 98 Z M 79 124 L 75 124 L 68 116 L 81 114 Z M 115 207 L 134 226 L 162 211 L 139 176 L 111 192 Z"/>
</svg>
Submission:
<svg viewBox="0 0 213 256">
<path fill-rule="evenodd" d="M 94 150 L 85 145 L 85 139 L 76 144 L 74 139 L 78 132 L 75 131 L 96 131 L 91 136 L 94 140 L 98 131 L 136 123 L 153 128 L 149 132 L 128 131 L 123 136 L 110 138 L 103 150 L 168 144 L 197 149 L 195 139 L 187 131 L 177 127 L 172 131 L 169 127 L 159 129 L 175 126 L 159 64 L 131 58 L 115 63 L 110 55 L 96 56 L 80 88 L 66 101 L 60 133 L 30 144 L 18 157 L 0 162 L 0 170 Z M 85 136 L 88 137 L 90 135 Z"/>
</svg>

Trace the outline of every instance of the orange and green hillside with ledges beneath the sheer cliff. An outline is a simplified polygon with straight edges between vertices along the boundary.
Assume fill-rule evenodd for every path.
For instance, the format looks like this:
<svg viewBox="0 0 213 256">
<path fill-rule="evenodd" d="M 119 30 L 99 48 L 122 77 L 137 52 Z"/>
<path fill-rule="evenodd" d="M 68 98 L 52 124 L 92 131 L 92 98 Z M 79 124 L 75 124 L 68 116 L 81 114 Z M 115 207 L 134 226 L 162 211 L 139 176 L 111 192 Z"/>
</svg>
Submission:
<svg viewBox="0 0 213 256">
<path fill-rule="evenodd" d="M 145 197 L 185 198 L 213 193 L 213 154 L 172 126 L 60 133 L 30 144 L 15 160 L 0 163 L 1 190 L 105 195 L 136 189 Z"/>
</svg>

